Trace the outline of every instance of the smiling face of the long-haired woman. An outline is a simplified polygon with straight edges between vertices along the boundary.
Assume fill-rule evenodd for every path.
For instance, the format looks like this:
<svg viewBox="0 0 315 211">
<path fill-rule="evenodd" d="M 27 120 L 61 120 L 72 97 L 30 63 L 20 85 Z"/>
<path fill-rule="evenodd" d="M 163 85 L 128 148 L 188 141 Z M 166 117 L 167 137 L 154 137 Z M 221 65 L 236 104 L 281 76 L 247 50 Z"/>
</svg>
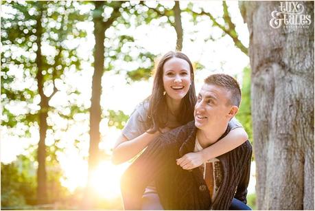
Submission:
<svg viewBox="0 0 315 211">
<path fill-rule="evenodd" d="M 163 66 L 163 85 L 167 96 L 182 100 L 191 85 L 189 63 L 181 58 L 170 58 Z"/>
</svg>

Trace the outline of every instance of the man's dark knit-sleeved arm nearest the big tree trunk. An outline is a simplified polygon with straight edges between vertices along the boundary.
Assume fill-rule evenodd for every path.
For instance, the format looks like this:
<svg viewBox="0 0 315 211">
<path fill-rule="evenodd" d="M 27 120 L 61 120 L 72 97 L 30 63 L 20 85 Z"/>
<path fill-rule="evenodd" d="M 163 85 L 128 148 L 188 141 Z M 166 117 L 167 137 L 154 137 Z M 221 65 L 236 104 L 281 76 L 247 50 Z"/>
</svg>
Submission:
<svg viewBox="0 0 315 211">
<path fill-rule="evenodd" d="M 237 185 L 237 190 L 235 193 L 235 199 L 238 199 L 244 203 L 247 203 L 246 195 L 247 195 L 247 186 L 250 178 L 250 162 L 252 157 L 253 148 L 250 143 L 247 141 L 244 143 L 243 155 L 245 156 L 244 161 L 244 170 L 241 175 L 240 183 Z"/>
</svg>

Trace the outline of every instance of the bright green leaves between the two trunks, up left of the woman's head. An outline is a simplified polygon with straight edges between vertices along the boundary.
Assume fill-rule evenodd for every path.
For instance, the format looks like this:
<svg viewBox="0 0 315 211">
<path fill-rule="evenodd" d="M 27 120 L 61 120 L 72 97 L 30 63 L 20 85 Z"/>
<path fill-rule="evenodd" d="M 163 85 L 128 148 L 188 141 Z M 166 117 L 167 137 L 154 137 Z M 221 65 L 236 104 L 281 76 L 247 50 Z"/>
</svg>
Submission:
<svg viewBox="0 0 315 211">
<path fill-rule="evenodd" d="M 117 5 L 113 5 L 113 3 L 115 1 L 106 2 L 105 8 L 115 8 Z M 151 3 L 148 6 L 145 1 L 140 1 L 139 3 L 124 1 L 124 3 L 121 3 L 119 12 L 121 15 L 113 21 L 111 26 L 118 32 L 117 35 L 115 37 L 106 36 L 105 38 L 105 71 L 115 71 L 117 74 L 120 74 L 121 71 L 126 71 L 126 80 L 129 84 L 134 81 L 148 80 L 152 76 L 156 55 L 147 52 L 142 47 L 136 46 L 133 36 L 119 34 L 119 31 L 121 31 L 122 25 L 126 28 L 130 27 L 131 22 L 135 23 L 135 27 L 138 27 L 143 24 L 150 24 L 152 20 L 156 19 L 160 19 L 160 25 L 173 25 L 174 12 L 172 6 L 167 8 L 163 3 L 156 3 L 154 6 Z M 112 12 L 110 15 L 113 16 L 115 14 Z M 121 65 L 121 62 L 124 63 L 124 65 L 121 65 L 124 69 L 119 68 L 119 65 L 115 65 L 115 61 L 120 61 L 119 65 Z M 130 63 L 132 65 L 129 65 Z M 135 67 L 136 64 L 137 67 Z M 128 67 L 135 68 L 128 69 Z"/>
</svg>

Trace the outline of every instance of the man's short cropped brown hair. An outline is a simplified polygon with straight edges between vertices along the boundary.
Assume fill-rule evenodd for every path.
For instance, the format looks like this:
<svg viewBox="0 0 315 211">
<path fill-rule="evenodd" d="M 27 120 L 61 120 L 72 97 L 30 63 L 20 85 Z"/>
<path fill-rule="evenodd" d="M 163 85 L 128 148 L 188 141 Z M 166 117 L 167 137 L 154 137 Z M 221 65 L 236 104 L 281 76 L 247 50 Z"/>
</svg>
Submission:
<svg viewBox="0 0 315 211">
<path fill-rule="evenodd" d="M 217 85 L 223 87 L 230 93 L 229 103 L 240 107 L 242 92 L 237 80 L 226 74 L 213 74 L 205 79 L 207 85 Z"/>
</svg>

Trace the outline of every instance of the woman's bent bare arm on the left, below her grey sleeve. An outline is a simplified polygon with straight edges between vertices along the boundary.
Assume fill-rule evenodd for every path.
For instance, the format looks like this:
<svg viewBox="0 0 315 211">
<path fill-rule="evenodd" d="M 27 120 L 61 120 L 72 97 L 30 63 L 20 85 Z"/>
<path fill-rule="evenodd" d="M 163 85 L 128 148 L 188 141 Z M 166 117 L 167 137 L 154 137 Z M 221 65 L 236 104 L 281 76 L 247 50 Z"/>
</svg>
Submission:
<svg viewBox="0 0 315 211">
<path fill-rule="evenodd" d="M 156 131 L 153 134 L 145 132 L 132 140 L 128 140 L 127 137 L 121 134 L 113 148 L 113 164 L 121 164 L 128 161 L 132 157 L 135 157 L 159 135 L 159 131 Z"/>
</svg>

